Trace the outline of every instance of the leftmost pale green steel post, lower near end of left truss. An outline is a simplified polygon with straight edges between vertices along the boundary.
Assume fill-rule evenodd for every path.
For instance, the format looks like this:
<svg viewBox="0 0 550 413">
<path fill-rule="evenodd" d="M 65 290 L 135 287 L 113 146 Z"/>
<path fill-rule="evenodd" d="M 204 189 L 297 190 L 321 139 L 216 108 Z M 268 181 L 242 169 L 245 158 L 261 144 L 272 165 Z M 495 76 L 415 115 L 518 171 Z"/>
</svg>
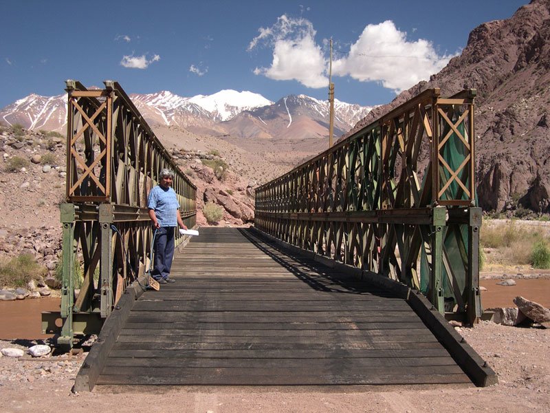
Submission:
<svg viewBox="0 0 550 413">
<path fill-rule="evenodd" d="M 74 204 L 60 204 L 63 224 L 63 279 L 61 281 L 61 318 L 63 326 L 57 343 L 63 350 L 73 346 L 73 305 L 74 305 Z"/>
</svg>

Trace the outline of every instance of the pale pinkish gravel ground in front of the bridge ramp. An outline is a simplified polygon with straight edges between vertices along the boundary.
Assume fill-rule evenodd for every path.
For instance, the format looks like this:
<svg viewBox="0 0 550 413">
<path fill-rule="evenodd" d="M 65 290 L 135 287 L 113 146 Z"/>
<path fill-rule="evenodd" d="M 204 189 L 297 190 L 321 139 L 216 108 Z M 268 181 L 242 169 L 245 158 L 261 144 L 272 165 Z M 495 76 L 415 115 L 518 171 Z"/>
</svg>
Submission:
<svg viewBox="0 0 550 413">
<path fill-rule="evenodd" d="M 489 388 L 96 388 L 71 392 L 85 354 L 0 358 L 3 412 L 530 412 L 550 411 L 550 330 L 481 322 L 459 332 L 497 372 Z M 24 343 L 31 346 L 32 343 Z M 19 347 L 0 341 L 0 348 Z"/>
</svg>

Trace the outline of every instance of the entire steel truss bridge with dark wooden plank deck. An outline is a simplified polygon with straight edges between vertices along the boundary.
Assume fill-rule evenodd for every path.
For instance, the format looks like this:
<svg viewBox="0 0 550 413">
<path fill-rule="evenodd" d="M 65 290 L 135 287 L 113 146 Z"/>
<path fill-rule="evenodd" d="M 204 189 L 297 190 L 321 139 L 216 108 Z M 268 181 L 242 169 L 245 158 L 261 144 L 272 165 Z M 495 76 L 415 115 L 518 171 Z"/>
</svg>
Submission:
<svg viewBox="0 0 550 413">
<path fill-rule="evenodd" d="M 474 90 L 426 90 L 259 187 L 254 229 L 178 237 L 160 291 L 146 195 L 173 169 L 192 228 L 196 187 L 118 83 L 67 93 L 61 312 L 43 331 L 66 349 L 100 332 L 75 390 L 496 382 L 443 318 L 482 311 Z"/>
</svg>

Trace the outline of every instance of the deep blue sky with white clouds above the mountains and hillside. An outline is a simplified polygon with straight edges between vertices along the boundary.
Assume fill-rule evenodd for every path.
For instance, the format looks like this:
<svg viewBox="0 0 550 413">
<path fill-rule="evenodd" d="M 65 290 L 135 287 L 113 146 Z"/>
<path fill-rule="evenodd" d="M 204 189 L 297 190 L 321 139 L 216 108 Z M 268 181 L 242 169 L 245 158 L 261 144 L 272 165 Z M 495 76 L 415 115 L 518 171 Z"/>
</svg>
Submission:
<svg viewBox="0 0 550 413">
<path fill-rule="evenodd" d="M 480 23 L 527 0 L 2 0 L 0 107 L 118 81 L 127 93 L 249 90 L 270 100 L 387 103 L 465 47 Z"/>
</svg>

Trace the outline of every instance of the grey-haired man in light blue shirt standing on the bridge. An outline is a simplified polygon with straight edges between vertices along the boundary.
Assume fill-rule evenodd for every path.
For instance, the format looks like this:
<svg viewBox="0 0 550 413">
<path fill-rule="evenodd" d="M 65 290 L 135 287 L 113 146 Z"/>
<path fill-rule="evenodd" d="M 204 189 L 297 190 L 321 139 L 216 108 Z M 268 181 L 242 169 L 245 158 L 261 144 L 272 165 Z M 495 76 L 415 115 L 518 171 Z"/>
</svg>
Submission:
<svg viewBox="0 0 550 413">
<path fill-rule="evenodd" d="M 159 173 L 159 184 L 149 192 L 147 207 L 149 218 L 155 226 L 154 268 L 151 277 L 159 284 L 175 282 L 170 278 L 170 268 L 174 257 L 174 237 L 177 226 L 187 229 L 179 215 L 179 202 L 175 191 L 171 188 L 174 173 L 170 169 L 162 169 Z"/>
</svg>

